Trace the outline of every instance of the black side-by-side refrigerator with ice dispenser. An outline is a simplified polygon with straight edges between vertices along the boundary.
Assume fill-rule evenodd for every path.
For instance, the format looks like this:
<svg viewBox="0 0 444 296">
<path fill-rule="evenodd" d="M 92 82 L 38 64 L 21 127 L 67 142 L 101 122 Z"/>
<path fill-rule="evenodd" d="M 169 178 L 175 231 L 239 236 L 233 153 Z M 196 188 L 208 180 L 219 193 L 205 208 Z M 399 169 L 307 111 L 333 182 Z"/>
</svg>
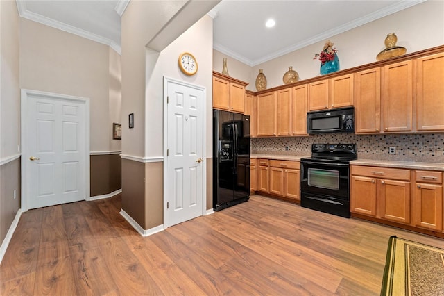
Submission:
<svg viewBox="0 0 444 296">
<path fill-rule="evenodd" d="M 250 116 L 213 110 L 213 208 L 250 198 Z"/>
</svg>

